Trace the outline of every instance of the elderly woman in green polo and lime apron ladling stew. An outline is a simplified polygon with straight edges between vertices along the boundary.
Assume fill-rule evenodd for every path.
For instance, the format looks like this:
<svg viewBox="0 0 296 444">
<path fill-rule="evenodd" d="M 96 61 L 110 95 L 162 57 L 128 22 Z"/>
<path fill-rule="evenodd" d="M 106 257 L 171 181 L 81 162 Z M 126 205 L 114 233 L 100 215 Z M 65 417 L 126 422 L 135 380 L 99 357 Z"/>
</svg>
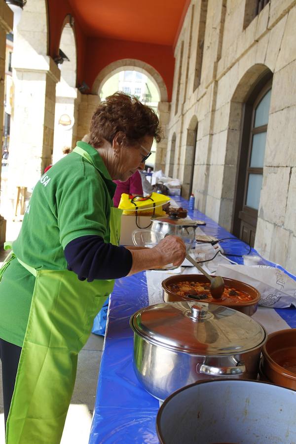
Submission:
<svg viewBox="0 0 296 444">
<path fill-rule="evenodd" d="M 142 170 L 158 118 L 116 93 L 95 111 L 89 144 L 50 168 L 34 188 L 13 255 L 2 267 L 0 355 L 6 443 L 59 443 L 77 354 L 113 280 L 182 263 L 185 245 L 168 236 L 152 249 L 118 247 L 116 185 Z"/>
</svg>

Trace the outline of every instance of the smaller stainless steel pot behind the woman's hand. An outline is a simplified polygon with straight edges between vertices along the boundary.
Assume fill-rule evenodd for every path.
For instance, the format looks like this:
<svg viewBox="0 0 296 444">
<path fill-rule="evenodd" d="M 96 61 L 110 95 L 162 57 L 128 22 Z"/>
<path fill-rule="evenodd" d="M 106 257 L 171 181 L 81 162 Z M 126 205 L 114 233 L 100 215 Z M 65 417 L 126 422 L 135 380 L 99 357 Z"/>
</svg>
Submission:
<svg viewBox="0 0 296 444">
<path fill-rule="evenodd" d="M 195 239 L 195 230 L 199 225 L 198 222 L 189 219 L 172 219 L 169 217 L 152 218 L 151 221 L 151 230 L 159 231 L 164 236 L 166 234 L 179 236 L 186 244 L 187 250 L 192 247 Z"/>
</svg>

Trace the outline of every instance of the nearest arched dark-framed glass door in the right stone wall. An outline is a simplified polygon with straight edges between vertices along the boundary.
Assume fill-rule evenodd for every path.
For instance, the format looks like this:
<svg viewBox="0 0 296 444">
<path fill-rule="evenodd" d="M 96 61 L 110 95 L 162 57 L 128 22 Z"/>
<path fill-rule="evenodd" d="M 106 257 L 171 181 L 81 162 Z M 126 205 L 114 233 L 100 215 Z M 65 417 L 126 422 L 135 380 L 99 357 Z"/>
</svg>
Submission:
<svg viewBox="0 0 296 444">
<path fill-rule="evenodd" d="M 272 80 L 255 88 L 245 105 L 244 128 L 236 190 L 233 233 L 255 243 Z"/>
</svg>

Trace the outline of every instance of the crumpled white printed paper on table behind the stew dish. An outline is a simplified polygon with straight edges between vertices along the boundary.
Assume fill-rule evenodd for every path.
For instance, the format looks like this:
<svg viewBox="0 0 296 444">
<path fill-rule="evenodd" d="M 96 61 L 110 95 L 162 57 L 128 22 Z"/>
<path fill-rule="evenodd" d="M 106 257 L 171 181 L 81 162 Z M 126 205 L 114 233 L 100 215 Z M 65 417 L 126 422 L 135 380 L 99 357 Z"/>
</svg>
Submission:
<svg viewBox="0 0 296 444">
<path fill-rule="evenodd" d="M 261 295 L 259 305 L 263 307 L 296 307 L 296 281 L 279 268 L 219 264 L 216 274 L 255 287 Z"/>
</svg>

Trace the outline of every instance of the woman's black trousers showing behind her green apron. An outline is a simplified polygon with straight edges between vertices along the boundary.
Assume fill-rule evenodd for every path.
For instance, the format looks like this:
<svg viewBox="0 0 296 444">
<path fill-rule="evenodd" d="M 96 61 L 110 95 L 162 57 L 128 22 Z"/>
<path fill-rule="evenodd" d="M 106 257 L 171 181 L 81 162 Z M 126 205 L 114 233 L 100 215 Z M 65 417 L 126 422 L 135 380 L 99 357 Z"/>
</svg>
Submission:
<svg viewBox="0 0 296 444">
<path fill-rule="evenodd" d="M 22 348 L 0 339 L 0 359 L 2 362 L 2 385 L 4 420 L 6 420 L 10 408 L 11 398 L 14 390 L 15 377 Z"/>
</svg>

